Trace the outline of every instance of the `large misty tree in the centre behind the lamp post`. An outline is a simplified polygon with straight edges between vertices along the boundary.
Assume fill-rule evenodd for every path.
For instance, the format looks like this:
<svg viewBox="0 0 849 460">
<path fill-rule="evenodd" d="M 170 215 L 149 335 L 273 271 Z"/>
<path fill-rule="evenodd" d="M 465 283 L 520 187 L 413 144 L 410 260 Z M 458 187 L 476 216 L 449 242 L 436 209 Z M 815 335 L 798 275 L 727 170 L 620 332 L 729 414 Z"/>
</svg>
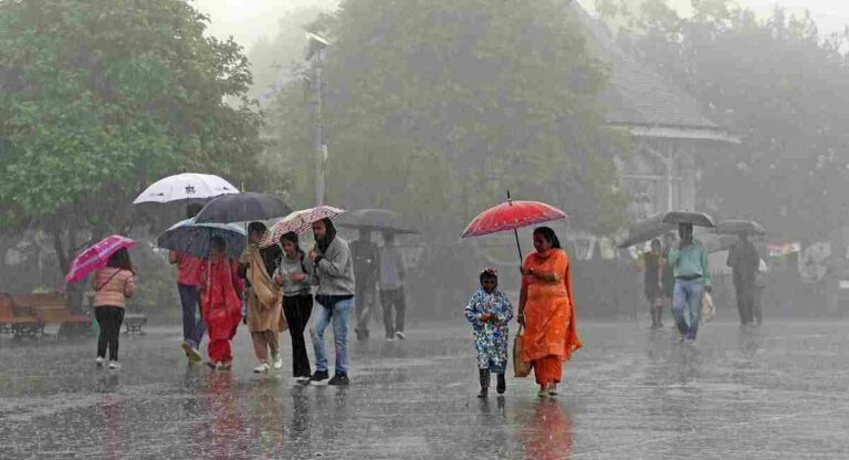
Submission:
<svg viewBox="0 0 849 460">
<path fill-rule="evenodd" d="M 504 198 L 565 207 L 610 232 L 618 137 L 604 127 L 606 69 L 556 0 L 347 0 L 314 27 L 324 61 L 328 201 L 457 221 Z M 302 83 L 270 107 L 280 163 L 312 200 Z"/>
</svg>

